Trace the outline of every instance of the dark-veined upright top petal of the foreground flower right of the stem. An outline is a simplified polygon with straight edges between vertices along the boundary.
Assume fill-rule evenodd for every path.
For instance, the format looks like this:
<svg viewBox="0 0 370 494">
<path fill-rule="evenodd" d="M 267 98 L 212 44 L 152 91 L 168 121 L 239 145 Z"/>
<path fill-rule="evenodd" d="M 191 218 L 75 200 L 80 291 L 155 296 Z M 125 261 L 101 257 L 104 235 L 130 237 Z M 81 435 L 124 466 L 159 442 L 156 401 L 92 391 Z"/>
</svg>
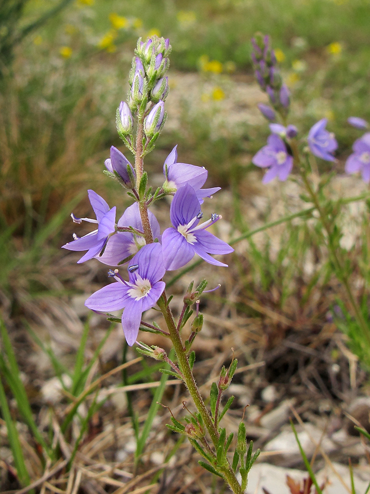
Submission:
<svg viewBox="0 0 370 494">
<path fill-rule="evenodd" d="M 170 208 L 170 218 L 174 227 L 187 225 L 200 211 L 200 203 L 194 189 L 188 184 L 180 187 L 172 200 Z M 196 220 L 193 226 L 196 226 L 198 222 L 199 220 Z"/>
</svg>

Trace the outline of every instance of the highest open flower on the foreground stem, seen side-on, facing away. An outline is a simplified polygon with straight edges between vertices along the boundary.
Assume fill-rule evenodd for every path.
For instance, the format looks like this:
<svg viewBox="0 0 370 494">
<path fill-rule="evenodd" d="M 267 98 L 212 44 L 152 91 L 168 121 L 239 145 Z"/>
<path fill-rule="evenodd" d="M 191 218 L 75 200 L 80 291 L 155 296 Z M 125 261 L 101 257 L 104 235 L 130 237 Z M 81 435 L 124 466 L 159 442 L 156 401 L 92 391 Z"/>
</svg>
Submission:
<svg viewBox="0 0 370 494">
<path fill-rule="evenodd" d="M 201 189 L 207 180 L 208 171 L 201 166 L 177 163 L 177 145 L 167 156 L 163 165 L 163 173 L 166 177 L 165 189 L 176 192 L 180 187 L 188 184 L 194 189 L 196 197 L 201 203 L 204 197 L 210 197 L 221 189 L 221 187 Z"/>
</svg>

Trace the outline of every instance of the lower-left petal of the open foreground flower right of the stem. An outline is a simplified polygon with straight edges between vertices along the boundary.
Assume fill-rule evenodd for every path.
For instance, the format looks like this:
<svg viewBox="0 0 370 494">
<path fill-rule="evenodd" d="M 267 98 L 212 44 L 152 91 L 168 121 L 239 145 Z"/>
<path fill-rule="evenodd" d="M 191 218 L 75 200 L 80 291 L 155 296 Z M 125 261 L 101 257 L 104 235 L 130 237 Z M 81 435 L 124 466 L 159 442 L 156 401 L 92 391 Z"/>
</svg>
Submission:
<svg viewBox="0 0 370 494">
<path fill-rule="evenodd" d="M 173 271 L 194 257 L 194 249 L 180 232 L 167 228 L 162 234 L 162 254 L 165 268 Z"/>
</svg>

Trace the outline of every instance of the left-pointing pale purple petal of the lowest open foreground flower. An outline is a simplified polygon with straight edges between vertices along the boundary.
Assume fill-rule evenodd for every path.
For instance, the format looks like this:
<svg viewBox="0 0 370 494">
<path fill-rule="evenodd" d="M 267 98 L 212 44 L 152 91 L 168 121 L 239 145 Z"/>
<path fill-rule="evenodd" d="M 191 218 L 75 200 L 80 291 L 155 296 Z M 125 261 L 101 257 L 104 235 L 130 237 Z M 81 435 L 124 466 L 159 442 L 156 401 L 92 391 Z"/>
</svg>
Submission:
<svg viewBox="0 0 370 494">
<path fill-rule="evenodd" d="M 123 309 L 131 300 L 127 293 L 128 287 L 123 283 L 115 282 L 100 288 L 86 300 L 85 305 L 89 309 L 98 312 L 111 312 Z"/>
</svg>

